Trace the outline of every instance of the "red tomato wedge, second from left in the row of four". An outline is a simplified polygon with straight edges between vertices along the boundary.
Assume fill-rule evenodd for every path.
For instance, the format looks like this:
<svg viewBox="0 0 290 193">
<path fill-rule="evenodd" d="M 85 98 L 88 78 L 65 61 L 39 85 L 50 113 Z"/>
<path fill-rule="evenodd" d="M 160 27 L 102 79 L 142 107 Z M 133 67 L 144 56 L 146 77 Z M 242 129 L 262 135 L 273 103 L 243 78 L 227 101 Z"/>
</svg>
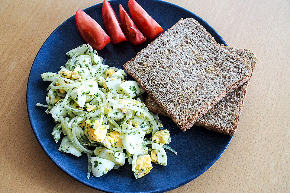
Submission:
<svg viewBox="0 0 290 193">
<path fill-rule="evenodd" d="M 112 43 L 116 44 L 127 41 L 125 34 L 121 30 L 120 22 L 117 18 L 117 15 L 111 7 L 110 3 L 107 1 L 103 2 L 102 15 L 103 23 L 112 40 Z"/>
</svg>

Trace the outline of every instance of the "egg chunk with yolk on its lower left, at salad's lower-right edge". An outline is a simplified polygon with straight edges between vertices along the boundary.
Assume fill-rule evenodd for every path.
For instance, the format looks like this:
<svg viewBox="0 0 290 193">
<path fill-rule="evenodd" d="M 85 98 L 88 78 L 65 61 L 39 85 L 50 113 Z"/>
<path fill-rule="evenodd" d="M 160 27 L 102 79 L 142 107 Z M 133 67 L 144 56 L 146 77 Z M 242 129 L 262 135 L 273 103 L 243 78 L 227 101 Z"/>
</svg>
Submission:
<svg viewBox="0 0 290 193">
<path fill-rule="evenodd" d="M 160 165 L 167 165 L 167 154 L 163 147 L 157 143 L 152 143 L 151 160 Z"/>
</svg>

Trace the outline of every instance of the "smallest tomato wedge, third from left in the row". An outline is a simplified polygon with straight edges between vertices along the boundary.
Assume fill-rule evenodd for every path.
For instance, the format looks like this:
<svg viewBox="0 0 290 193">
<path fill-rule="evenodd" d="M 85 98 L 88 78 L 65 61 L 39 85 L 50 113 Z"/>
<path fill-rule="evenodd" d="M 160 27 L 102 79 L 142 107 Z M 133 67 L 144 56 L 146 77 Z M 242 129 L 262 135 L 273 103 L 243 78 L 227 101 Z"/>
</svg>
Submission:
<svg viewBox="0 0 290 193">
<path fill-rule="evenodd" d="M 121 27 L 127 39 L 134 45 L 145 42 L 146 37 L 144 37 L 143 34 L 138 30 L 137 26 L 134 24 L 133 20 L 130 18 L 121 4 L 119 4 L 119 14 Z"/>
</svg>

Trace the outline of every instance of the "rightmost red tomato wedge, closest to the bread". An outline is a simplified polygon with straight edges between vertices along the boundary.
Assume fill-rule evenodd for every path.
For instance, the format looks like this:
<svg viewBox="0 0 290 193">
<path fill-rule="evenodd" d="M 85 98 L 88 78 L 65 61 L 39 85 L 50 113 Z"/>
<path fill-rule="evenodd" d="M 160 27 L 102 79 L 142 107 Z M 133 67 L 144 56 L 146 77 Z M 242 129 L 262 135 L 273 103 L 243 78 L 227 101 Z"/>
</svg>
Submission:
<svg viewBox="0 0 290 193">
<path fill-rule="evenodd" d="M 129 0 L 128 6 L 133 21 L 145 37 L 153 40 L 164 31 L 135 0 Z"/>
</svg>

